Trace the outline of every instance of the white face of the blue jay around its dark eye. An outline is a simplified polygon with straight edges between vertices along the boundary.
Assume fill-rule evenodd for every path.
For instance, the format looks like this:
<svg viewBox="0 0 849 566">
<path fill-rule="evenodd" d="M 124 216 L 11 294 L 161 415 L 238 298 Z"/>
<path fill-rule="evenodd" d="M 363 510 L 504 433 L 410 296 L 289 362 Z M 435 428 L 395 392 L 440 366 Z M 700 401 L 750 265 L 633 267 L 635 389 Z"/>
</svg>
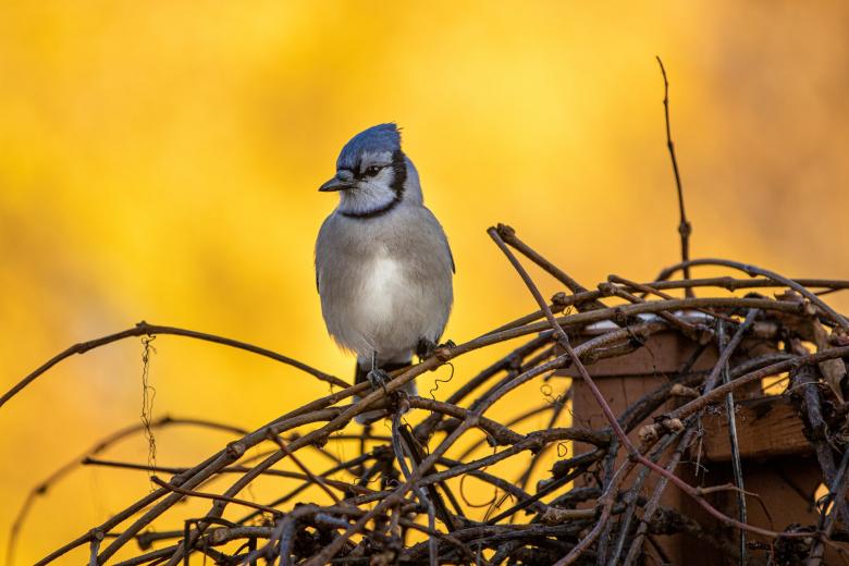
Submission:
<svg viewBox="0 0 849 566">
<path fill-rule="evenodd" d="M 343 169 L 336 176 L 353 182 L 350 188 L 340 193 L 339 209 L 342 212 L 366 214 L 401 198 L 393 188 L 395 171 L 389 151 L 364 153 L 356 171 Z"/>
</svg>

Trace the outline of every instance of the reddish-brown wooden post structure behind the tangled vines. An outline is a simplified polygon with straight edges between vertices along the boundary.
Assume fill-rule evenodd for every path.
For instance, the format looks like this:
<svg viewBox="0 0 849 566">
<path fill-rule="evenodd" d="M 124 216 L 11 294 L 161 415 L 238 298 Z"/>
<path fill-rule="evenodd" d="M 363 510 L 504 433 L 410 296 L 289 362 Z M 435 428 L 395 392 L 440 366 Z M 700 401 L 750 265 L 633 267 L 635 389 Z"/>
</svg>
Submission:
<svg viewBox="0 0 849 566">
<path fill-rule="evenodd" d="M 690 317 L 691 322 L 707 322 L 701 316 Z M 574 336 L 574 343 L 580 344 L 603 332 L 610 331 L 611 323 L 585 329 Z M 753 360 L 764 356 L 779 356 L 782 344 L 775 332 L 775 324 L 768 321 L 755 323 L 736 349 L 730 368 L 746 368 Z M 643 424 L 653 422 L 653 417 L 662 415 L 690 401 L 688 394 L 697 394 L 698 386 L 713 370 L 719 357 L 716 341 L 706 344 L 689 339 L 678 330 L 664 330 L 650 335 L 644 341 L 635 341 L 632 352 L 598 361 L 590 360 L 587 369 L 610 404 L 614 414 L 622 417 L 626 409 L 637 406 L 648 395 L 660 394 L 663 402 L 650 415 L 629 427 L 629 438 L 639 445 L 638 433 Z M 573 379 L 571 399 L 574 423 L 591 429 L 604 428 L 605 418 L 590 392 L 574 367 L 559 370 L 557 376 Z M 673 384 L 678 383 L 677 386 Z M 738 389 L 735 393 L 735 420 L 737 444 L 742 462 L 745 489 L 748 495 L 747 521 L 750 525 L 770 530 L 784 530 L 792 525 L 816 524 L 814 500 L 821 485 L 822 472 L 813 455 L 813 446 L 805 438 L 803 424 L 789 395 L 773 394 L 767 384 L 755 382 L 751 386 Z M 777 384 L 775 390 L 786 389 Z M 676 473 L 696 487 L 717 487 L 733 483 L 731 444 L 728 428 L 728 415 L 725 410 L 710 408 L 701 417 L 701 427 L 694 440 L 680 457 Z M 673 443 L 663 456 L 666 462 L 677 444 Z M 588 450 L 587 445 L 575 445 L 575 454 Z M 625 462 L 627 454 L 620 450 L 617 466 Z M 639 467 L 638 467 L 639 468 Z M 625 480 L 625 487 L 637 481 L 637 470 Z M 650 499 L 657 488 L 660 476 L 649 473 L 638 495 Z M 603 478 L 599 473 L 585 473 L 576 480 L 576 487 L 598 485 Z M 737 492 L 718 490 L 706 495 L 707 501 L 730 517 L 737 517 Z M 667 484 L 661 497 L 661 507 L 677 510 L 684 517 L 698 520 L 700 527 L 687 528 L 704 530 L 703 537 L 722 539 L 730 552 L 739 544 L 739 531 L 724 528 L 716 519 L 707 515 L 690 496 L 675 485 Z M 687 528 L 682 530 L 686 532 Z M 672 564 L 714 566 L 723 564 L 728 555 L 716 550 L 715 544 L 706 544 L 699 536 L 677 533 L 660 536 L 655 533 L 659 553 L 665 555 Z M 747 536 L 750 543 L 770 544 L 759 537 Z M 763 553 L 761 553 L 763 555 Z M 735 562 L 736 563 L 736 562 Z M 750 562 L 756 564 L 756 562 Z"/>
</svg>

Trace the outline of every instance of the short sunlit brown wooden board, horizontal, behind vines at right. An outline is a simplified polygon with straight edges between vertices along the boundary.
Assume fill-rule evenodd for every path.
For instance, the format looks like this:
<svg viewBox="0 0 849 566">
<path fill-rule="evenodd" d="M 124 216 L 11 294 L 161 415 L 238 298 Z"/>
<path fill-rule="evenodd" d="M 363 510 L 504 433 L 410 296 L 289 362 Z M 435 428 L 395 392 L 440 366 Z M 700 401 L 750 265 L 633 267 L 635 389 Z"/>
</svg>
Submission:
<svg viewBox="0 0 849 566">
<path fill-rule="evenodd" d="M 808 454 L 813 447 L 802 432 L 802 421 L 784 397 L 761 397 L 738 404 L 737 438 L 743 458 L 770 458 L 790 454 Z M 724 410 L 702 419 L 702 450 L 713 462 L 731 458 L 728 418 Z"/>
</svg>

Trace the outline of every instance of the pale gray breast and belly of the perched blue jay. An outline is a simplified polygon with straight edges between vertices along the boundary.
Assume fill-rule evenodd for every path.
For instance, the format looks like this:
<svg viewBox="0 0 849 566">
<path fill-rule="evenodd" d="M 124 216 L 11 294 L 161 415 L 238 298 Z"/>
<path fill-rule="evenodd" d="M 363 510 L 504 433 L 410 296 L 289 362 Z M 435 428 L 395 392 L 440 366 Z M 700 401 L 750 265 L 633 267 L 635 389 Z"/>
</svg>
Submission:
<svg viewBox="0 0 849 566">
<path fill-rule="evenodd" d="M 420 339 L 442 335 L 452 268 L 445 234 L 422 206 L 368 221 L 331 214 L 316 245 L 328 331 L 360 357 L 410 359 Z"/>
</svg>

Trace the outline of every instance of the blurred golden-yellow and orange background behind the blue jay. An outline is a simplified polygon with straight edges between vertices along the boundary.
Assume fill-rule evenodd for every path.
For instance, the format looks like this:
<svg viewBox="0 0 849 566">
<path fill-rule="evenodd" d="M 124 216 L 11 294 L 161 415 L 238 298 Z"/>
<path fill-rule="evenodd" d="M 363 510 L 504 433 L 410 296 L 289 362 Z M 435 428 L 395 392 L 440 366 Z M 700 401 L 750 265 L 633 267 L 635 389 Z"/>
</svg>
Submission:
<svg viewBox="0 0 849 566">
<path fill-rule="evenodd" d="M 588 286 L 652 280 L 678 258 L 655 54 L 693 256 L 849 279 L 848 33 L 840 1 L 3 2 L 0 385 L 142 319 L 348 379 L 315 292 L 315 235 L 335 206 L 316 189 L 345 140 L 385 121 L 454 248 L 447 336 L 533 307 L 485 235 L 495 222 Z M 153 346 L 153 417 L 255 427 L 327 393 L 245 354 Z M 138 422 L 140 356 L 138 340 L 77 356 L 0 410 L 0 551 L 33 485 Z M 458 360 L 455 380 L 484 360 Z M 158 462 L 230 439 L 162 431 Z M 142 436 L 110 453 L 146 455 Z M 72 472 L 33 507 L 16 563 L 149 489 L 139 472 Z"/>
</svg>

